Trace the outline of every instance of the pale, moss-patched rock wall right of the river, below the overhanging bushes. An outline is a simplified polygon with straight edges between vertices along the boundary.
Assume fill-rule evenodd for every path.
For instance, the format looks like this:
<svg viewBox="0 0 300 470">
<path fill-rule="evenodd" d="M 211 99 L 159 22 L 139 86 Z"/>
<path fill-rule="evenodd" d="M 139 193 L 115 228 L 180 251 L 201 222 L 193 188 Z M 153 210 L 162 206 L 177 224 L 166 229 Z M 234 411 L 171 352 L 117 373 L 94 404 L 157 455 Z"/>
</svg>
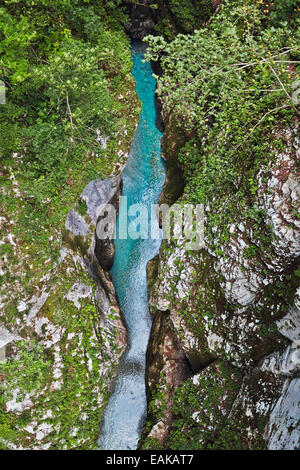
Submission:
<svg viewBox="0 0 300 470">
<path fill-rule="evenodd" d="M 206 235 L 205 248 L 194 252 L 177 241 L 164 241 L 159 256 L 148 265 L 154 316 L 150 347 L 157 341 L 157 322 L 165 321 L 172 344 L 177 344 L 170 349 L 183 358 L 182 364 L 189 364 L 192 378 L 179 386 L 167 380 L 168 363 L 160 365 L 165 354 L 162 337 L 148 355 L 149 419 L 143 448 L 300 446 L 300 145 L 297 126 L 281 132 L 285 150 L 257 175 L 254 206 L 263 214 L 259 230 L 237 212 L 229 240 L 221 242 L 222 255 Z M 178 184 L 172 185 L 172 174 L 180 175 L 175 160 L 182 140 L 169 116 L 163 142 L 169 180 L 163 202 L 176 200 Z M 178 197 L 180 201 L 184 195 L 179 191 Z M 209 211 L 208 201 L 205 213 Z M 222 211 L 226 207 L 220 207 Z M 218 228 L 213 235 L 220 242 Z M 257 249 L 249 256 L 253 246 Z"/>
</svg>

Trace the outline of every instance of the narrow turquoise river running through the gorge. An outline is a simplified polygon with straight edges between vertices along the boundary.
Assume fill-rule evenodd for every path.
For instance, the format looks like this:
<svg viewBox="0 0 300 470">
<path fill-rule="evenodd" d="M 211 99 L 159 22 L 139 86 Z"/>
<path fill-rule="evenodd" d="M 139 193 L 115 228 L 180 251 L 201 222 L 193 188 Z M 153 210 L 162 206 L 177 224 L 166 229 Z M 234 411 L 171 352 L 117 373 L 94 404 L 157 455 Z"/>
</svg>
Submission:
<svg viewBox="0 0 300 470">
<path fill-rule="evenodd" d="M 156 80 L 149 62 L 143 63 L 145 46 L 132 45 L 132 73 L 142 102 L 139 124 L 123 172 L 120 211 L 126 204 L 142 203 L 149 214 L 157 203 L 165 181 L 165 163 L 161 158 L 161 132 L 157 129 L 155 110 Z M 127 198 L 127 201 L 126 201 Z M 126 217 L 119 217 L 125 230 Z M 130 224 L 135 217 L 127 217 Z M 120 221 L 123 222 L 120 222 Z M 115 380 L 113 393 L 100 427 L 99 447 L 102 450 L 134 450 L 146 418 L 145 359 L 151 329 L 146 279 L 147 262 L 159 252 L 161 239 L 158 221 L 152 220 L 156 239 L 115 240 L 116 254 L 111 271 L 116 293 L 124 313 L 129 348 L 124 353 Z"/>
</svg>

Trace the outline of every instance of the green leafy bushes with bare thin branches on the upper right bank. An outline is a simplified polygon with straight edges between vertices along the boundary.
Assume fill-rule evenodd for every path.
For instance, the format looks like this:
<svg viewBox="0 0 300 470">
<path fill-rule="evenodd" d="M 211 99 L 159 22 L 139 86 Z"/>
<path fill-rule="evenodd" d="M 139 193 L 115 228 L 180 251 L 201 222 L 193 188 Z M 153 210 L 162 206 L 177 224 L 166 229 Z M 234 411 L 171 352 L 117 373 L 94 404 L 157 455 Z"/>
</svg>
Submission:
<svg viewBox="0 0 300 470">
<path fill-rule="evenodd" d="M 255 194 L 255 175 L 272 159 L 274 126 L 299 116 L 299 24 L 296 2 L 270 9 L 263 0 L 227 0 L 206 28 L 171 42 L 149 38 L 148 57 L 164 71 L 165 113 L 187 136 L 180 161 L 191 202 L 226 200 L 233 217 Z M 272 140 L 280 148 L 280 138 Z"/>
</svg>

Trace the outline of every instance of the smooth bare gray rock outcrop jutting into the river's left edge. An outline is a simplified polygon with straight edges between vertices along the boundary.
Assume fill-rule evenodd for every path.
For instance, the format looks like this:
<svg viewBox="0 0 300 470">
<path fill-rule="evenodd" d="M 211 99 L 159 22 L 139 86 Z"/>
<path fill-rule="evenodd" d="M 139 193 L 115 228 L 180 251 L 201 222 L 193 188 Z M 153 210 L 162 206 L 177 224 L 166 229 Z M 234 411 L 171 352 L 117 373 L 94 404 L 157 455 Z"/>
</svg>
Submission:
<svg viewBox="0 0 300 470">
<path fill-rule="evenodd" d="M 103 219 L 103 212 L 108 205 L 114 209 L 115 215 L 119 211 L 120 197 L 122 191 L 121 177 L 113 177 L 106 180 L 91 181 L 80 196 L 80 201 L 74 209 L 68 213 L 66 220 L 66 242 L 72 250 L 79 251 L 80 259 L 89 271 L 90 275 L 97 281 L 96 300 L 100 313 L 100 325 L 108 330 L 116 328 L 117 344 L 123 348 L 127 343 L 126 329 L 123 324 L 122 313 L 116 298 L 115 289 L 109 274 L 113 265 L 115 248 L 112 239 L 115 226 L 110 228 L 106 238 L 98 237 L 98 224 Z M 82 208 L 82 204 L 84 207 Z M 79 213 L 85 212 L 84 215 Z M 115 222 L 114 218 L 114 222 Z M 75 292 L 70 292 L 69 297 L 76 304 L 77 297 L 84 297 L 87 293 L 82 291 L 78 284 Z M 116 320 L 112 323 L 107 318 L 113 307 Z"/>
</svg>

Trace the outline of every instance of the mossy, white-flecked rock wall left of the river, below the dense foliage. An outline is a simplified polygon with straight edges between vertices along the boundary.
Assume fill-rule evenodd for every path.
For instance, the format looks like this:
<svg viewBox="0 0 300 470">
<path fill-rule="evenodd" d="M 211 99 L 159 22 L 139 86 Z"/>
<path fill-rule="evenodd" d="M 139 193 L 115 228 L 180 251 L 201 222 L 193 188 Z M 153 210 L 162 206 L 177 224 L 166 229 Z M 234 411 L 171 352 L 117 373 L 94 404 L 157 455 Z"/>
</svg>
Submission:
<svg viewBox="0 0 300 470">
<path fill-rule="evenodd" d="M 15 217 L 5 210 L 0 217 L 0 448 L 95 448 L 127 345 L 108 273 L 113 243 L 95 233 L 99 206 L 111 202 L 118 209 L 121 180 L 113 175 L 126 163 L 138 121 L 140 103 L 130 74 L 124 88 L 118 97 L 124 103 L 122 126 L 114 136 L 98 136 L 106 178 L 78 191 L 78 202 L 68 201 L 67 220 L 45 230 L 51 247 L 45 262 L 16 223 L 17 207 L 30 208 L 31 202 L 18 178 L 12 173 L 1 187 L 13 201 Z"/>
</svg>

